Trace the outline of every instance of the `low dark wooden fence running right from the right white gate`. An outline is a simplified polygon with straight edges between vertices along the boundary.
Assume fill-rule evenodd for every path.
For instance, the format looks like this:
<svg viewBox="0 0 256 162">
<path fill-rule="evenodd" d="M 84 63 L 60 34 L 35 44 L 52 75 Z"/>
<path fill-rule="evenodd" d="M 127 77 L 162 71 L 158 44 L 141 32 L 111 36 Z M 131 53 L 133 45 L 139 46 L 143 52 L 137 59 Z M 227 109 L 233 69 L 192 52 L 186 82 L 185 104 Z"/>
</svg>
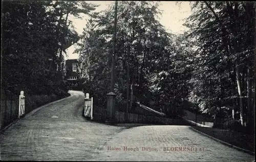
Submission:
<svg viewBox="0 0 256 162">
<path fill-rule="evenodd" d="M 94 106 L 93 121 L 105 122 L 106 109 Z M 121 111 L 115 112 L 115 122 L 116 123 L 139 123 L 139 124 L 191 125 L 189 122 L 183 119 L 169 119 L 164 117 L 154 117 L 154 116 L 134 114 L 134 113 L 128 113 L 126 117 L 126 113 Z"/>
</svg>

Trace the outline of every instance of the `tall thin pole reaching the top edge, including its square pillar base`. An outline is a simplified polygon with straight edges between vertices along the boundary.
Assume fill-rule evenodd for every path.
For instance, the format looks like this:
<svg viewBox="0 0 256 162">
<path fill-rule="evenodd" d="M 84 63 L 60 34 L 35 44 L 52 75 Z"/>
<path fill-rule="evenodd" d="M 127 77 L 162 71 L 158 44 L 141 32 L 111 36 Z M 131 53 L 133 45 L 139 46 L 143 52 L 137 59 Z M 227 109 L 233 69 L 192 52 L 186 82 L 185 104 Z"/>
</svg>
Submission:
<svg viewBox="0 0 256 162">
<path fill-rule="evenodd" d="M 112 72 L 111 72 L 111 91 L 108 96 L 107 103 L 107 123 L 115 123 L 115 98 L 114 81 L 115 81 L 115 63 L 116 63 L 116 26 L 117 26 L 117 1 L 115 2 L 115 19 L 114 19 L 114 36 L 113 36 L 113 50 L 112 50 Z"/>
</svg>

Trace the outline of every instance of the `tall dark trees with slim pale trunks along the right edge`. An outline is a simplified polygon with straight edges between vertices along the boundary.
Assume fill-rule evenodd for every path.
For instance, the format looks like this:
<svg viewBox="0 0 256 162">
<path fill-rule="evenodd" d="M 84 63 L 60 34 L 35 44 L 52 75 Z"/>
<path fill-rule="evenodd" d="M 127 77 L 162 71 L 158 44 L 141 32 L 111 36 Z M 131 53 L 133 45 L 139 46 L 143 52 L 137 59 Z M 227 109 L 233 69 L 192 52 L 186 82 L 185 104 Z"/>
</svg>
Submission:
<svg viewBox="0 0 256 162">
<path fill-rule="evenodd" d="M 197 2 L 187 19 L 196 38 L 190 101 L 254 129 L 255 3 Z"/>
</svg>

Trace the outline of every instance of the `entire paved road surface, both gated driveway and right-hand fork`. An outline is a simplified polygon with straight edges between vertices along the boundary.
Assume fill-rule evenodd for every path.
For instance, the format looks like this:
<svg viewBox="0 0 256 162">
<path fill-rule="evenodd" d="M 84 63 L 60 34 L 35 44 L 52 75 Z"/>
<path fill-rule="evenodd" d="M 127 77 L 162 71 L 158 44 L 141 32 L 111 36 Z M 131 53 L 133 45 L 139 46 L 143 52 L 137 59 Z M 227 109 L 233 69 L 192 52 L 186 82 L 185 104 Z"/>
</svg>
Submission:
<svg viewBox="0 0 256 162">
<path fill-rule="evenodd" d="M 124 129 L 124 125 L 117 127 L 87 121 L 82 117 L 83 93 L 70 93 L 71 97 L 27 115 L 1 134 L 1 160 L 254 159 L 254 156 L 222 145 L 189 126 L 151 125 Z"/>
</svg>

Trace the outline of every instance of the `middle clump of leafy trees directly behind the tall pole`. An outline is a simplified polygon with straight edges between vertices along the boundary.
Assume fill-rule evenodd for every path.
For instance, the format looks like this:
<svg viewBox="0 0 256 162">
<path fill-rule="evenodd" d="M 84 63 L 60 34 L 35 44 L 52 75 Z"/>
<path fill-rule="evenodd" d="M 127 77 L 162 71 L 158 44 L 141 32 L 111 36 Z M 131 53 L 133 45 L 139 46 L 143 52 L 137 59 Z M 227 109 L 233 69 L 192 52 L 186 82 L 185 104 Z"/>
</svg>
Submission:
<svg viewBox="0 0 256 162">
<path fill-rule="evenodd" d="M 87 74 L 86 89 L 102 106 L 110 92 L 113 7 L 88 21 L 78 50 L 83 73 Z M 185 82 L 190 70 L 186 55 L 190 47 L 183 50 L 175 45 L 176 41 L 182 43 L 183 38 L 165 31 L 157 17 L 160 13 L 156 2 L 118 3 L 115 92 L 117 104 L 130 101 L 131 110 L 134 101 L 147 106 L 155 103 L 156 109 L 163 106 L 166 112 L 170 105 L 175 105 L 171 109 L 182 110 L 181 103 L 187 95 Z M 171 89 L 173 93 L 169 92 Z"/>
</svg>

